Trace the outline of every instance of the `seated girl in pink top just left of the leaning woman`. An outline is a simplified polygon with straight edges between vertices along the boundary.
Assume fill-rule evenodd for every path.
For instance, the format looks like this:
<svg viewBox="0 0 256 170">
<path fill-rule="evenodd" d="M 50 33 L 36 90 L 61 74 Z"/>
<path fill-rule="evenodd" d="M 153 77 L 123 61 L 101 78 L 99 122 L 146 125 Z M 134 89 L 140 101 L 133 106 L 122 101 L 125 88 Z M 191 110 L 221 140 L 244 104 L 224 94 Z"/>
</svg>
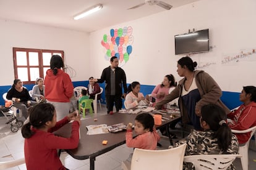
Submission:
<svg viewBox="0 0 256 170">
<path fill-rule="evenodd" d="M 164 96 L 169 94 L 169 89 L 176 86 L 177 82 L 175 82 L 174 76 L 166 75 L 164 76 L 163 83 L 158 84 L 151 92 L 151 95 L 156 99 L 156 103 L 161 102 Z"/>
</svg>

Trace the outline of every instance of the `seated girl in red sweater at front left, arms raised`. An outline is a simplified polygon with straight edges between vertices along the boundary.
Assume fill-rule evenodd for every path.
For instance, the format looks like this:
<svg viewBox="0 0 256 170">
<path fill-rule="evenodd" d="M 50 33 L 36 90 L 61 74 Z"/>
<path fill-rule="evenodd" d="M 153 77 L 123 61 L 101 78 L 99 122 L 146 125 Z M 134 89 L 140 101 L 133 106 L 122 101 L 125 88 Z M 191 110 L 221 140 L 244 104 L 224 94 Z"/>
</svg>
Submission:
<svg viewBox="0 0 256 170">
<path fill-rule="evenodd" d="M 27 169 L 65 169 L 57 153 L 57 148 L 72 149 L 79 145 L 80 117 L 70 113 L 56 122 L 56 111 L 50 103 L 39 103 L 29 110 L 29 123 L 22 127 L 25 138 L 24 155 Z M 72 123 L 72 134 L 69 138 L 54 136 L 52 132 L 64 124 Z"/>
</svg>

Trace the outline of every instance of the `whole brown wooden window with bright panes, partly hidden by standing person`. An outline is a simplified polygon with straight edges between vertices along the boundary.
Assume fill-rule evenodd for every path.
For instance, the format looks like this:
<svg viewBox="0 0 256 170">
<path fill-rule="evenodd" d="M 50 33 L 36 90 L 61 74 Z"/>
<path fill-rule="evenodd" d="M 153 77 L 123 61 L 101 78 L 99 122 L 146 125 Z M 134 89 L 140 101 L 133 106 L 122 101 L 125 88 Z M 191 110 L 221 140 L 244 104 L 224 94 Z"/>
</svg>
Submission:
<svg viewBox="0 0 256 170">
<path fill-rule="evenodd" d="M 24 84 L 35 83 L 36 78 L 45 78 L 50 68 L 51 56 L 58 54 L 64 60 L 64 51 L 13 48 L 14 76 Z"/>
</svg>

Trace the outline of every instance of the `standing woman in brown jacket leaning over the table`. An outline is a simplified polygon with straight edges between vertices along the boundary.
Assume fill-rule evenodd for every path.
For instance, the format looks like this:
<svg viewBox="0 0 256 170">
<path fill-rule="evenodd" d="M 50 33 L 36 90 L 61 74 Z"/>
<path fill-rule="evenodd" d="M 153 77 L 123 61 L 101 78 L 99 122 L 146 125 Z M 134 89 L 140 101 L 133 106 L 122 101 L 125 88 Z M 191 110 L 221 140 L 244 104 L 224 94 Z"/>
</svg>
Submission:
<svg viewBox="0 0 256 170">
<path fill-rule="evenodd" d="M 200 129 L 200 110 L 203 105 L 215 103 L 221 106 L 226 114 L 230 111 L 220 100 L 222 91 L 215 80 L 205 71 L 195 70 L 195 67 L 197 62 L 193 62 L 190 57 L 186 56 L 178 60 L 177 73 L 184 78 L 170 94 L 156 103 L 155 108 L 160 109 L 165 103 L 179 97 L 182 123 L 191 124 L 195 129 Z"/>
</svg>

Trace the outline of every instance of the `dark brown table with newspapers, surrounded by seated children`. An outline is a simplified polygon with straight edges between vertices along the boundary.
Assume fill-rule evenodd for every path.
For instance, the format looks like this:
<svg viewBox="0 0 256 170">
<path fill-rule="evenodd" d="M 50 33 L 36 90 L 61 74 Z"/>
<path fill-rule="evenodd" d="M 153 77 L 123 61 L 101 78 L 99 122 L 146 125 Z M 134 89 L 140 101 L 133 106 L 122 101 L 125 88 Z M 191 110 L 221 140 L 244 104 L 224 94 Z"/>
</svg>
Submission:
<svg viewBox="0 0 256 170">
<path fill-rule="evenodd" d="M 116 133 L 109 132 L 108 134 L 87 135 L 86 126 L 93 124 L 107 124 L 109 126 L 117 123 L 134 123 L 135 117 L 135 114 L 115 113 L 114 115 L 94 116 L 92 118 L 82 120 L 80 126 L 79 146 L 75 149 L 66 150 L 66 152 L 77 160 L 85 160 L 90 158 L 90 169 L 95 169 L 96 156 L 109 152 L 119 145 L 126 143 L 126 131 Z M 176 114 L 175 118 L 170 118 L 169 114 L 163 114 L 163 117 L 169 118 L 169 120 L 163 118 L 164 121 L 160 126 L 156 126 L 156 129 L 164 126 L 166 126 L 166 129 L 169 129 L 169 124 L 177 123 L 177 121 L 181 119 L 179 114 Z M 94 121 L 95 118 L 98 120 Z M 61 129 L 54 132 L 54 134 L 62 137 L 70 137 L 71 124 L 66 124 L 65 126 L 61 127 Z M 172 144 L 173 141 L 170 136 L 169 139 Z M 108 144 L 103 145 L 103 140 L 108 140 Z"/>
</svg>

